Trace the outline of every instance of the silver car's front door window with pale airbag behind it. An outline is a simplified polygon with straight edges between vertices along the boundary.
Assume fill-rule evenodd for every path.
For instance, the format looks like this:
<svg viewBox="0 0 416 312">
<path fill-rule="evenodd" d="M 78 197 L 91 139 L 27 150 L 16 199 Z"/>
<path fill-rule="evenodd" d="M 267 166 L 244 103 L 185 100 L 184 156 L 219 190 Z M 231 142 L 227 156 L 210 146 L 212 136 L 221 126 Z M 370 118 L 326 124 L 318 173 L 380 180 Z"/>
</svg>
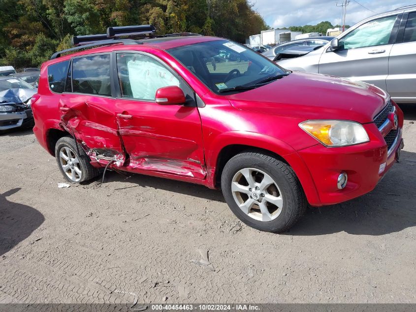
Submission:
<svg viewBox="0 0 416 312">
<path fill-rule="evenodd" d="M 339 40 L 344 50 L 388 44 L 397 15 L 370 21 Z"/>
</svg>

